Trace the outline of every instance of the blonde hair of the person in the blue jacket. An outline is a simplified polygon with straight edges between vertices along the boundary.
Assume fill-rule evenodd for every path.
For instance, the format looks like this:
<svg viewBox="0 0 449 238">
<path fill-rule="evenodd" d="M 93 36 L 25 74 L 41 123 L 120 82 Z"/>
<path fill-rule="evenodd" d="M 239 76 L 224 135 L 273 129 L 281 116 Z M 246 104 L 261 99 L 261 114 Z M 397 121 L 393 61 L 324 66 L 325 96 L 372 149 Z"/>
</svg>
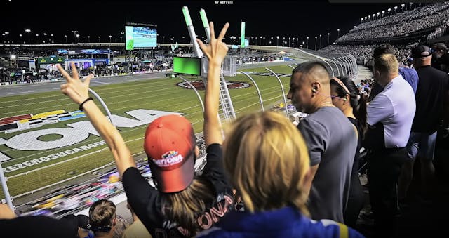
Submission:
<svg viewBox="0 0 449 238">
<path fill-rule="evenodd" d="M 300 131 L 283 115 L 257 112 L 234 121 L 223 145 L 224 166 L 248 211 L 305 206 L 309 154 Z"/>
</svg>

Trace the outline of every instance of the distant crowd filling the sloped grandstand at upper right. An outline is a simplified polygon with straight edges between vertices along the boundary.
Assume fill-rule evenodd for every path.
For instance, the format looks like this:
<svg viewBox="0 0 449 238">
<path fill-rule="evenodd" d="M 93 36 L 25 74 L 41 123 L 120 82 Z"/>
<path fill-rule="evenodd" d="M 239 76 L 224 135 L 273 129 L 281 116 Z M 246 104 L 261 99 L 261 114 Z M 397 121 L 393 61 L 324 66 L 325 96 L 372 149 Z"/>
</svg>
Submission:
<svg viewBox="0 0 449 238">
<path fill-rule="evenodd" d="M 423 29 L 440 27 L 449 19 L 447 1 L 363 22 L 336 42 L 400 37 Z"/>
</svg>

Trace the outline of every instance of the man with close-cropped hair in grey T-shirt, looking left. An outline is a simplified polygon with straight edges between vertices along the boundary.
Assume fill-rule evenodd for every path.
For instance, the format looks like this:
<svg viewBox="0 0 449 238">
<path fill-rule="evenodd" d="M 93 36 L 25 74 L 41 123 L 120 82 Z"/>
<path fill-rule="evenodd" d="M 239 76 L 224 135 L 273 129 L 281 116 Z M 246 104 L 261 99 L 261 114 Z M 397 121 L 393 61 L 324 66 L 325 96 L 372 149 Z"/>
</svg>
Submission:
<svg viewBox="0 0 449 238">
<path fill-rule="evenodd" d="M 309 114 L 297 128 L 309 149 L 311 178 L 307 207 L 311 218 L 343 223 L 357 134 L 342 111 L 332 104 L 326 66 L 319 61 L 298 65 L 293 70 L 287 97 L 298 112 Z"/>
</svg>

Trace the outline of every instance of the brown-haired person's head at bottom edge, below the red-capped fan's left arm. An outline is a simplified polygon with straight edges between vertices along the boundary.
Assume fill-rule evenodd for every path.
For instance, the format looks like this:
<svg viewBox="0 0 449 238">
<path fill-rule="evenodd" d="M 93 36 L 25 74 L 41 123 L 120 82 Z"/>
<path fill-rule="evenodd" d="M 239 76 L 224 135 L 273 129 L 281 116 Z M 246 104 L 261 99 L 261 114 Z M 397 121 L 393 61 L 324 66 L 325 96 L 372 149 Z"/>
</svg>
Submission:
<svg viewBox="0 0 449 238">
<path fill-rule="evenodd" d="M 112 201 L 100 199 L 89 209 L 89 229 L 93 237 L 113 238 L 116 230 L 116 206 Z"/>
</svg>

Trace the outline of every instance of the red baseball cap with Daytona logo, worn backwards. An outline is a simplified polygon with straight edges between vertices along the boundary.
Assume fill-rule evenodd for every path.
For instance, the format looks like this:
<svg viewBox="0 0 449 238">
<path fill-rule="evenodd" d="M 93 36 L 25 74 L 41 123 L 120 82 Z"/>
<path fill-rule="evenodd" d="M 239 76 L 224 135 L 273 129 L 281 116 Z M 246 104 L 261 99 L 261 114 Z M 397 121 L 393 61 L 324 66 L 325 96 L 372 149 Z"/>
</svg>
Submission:
<svg viewBox="0 0 449 238">
<path fill-rule="evenodd" d="M 172 114 L 157 118 L 145 131 L 144 148 L 161 192 L 180 192 L 194 178 L 196 139 L 190 121 Z"/>
</svg>

